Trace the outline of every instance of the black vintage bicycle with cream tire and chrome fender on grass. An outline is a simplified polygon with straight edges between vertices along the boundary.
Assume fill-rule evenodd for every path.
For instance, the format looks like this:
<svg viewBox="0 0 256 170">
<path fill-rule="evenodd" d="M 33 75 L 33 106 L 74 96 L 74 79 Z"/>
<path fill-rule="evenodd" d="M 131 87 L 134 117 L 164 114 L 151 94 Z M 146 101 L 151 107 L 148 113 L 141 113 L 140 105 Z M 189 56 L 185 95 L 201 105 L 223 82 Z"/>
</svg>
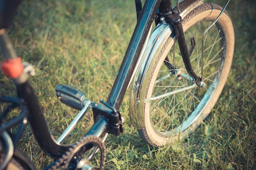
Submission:
<svg viewBox="0 0 256 170">
<path fill-rule="evenodd" d="M 17 87 L 17 97 L 0 97 L 3 108 L 0 169 L 36 169 L 16 148 L 27 121 L 40 148 L 55 159 L 45 169 L 60 166 L 63 169 L 103 169 L 106 160 L 104 140 L 108 134 L 119 136 L 123 132 L 124 118 L 118 110 L 129 85 L 132 86 L 131 124 L 151 146 L 165 146 L 186 137 L 208 116 L 225 85 L 234 53 L 234 29 L 224 11 L 227 4 L 222 9 L 203 0 L 183 0 L 172 8 L 169 0 L 147 0 L 142 9 L 140 0 L 135 3 L 137 26 L 107 101 L 101 101 L 101 104 L 92 102 L 83 92 L 72 87 L 56 87 L 61 102 L 80 110 L 57 141 L 49 133 L 27 81 L 29 74 L 34 74 L 33 67 L 16 57 L 6 33 L 7 26 L 0 25 L 0 42 L 5 57 L 1 69 Z M 156 28 L 150 34 L 153 20 Z M 190 31 L 193 28 L 196 30 Z M 175 52 L 176 40 L 181 54 Z M 186 42 L 189 41 L 188 48 Z M 90 131 L 73 144 L 62 144 L 90 109 L 94 117 Z M 19 116 L 3 122 L 7 114 L 17 112 Z M 15 124 L 20 126 L 13 134 L 9 129 Z M 90 161 L 98 150 L 100 163 L 93 167 Z M 84 153 L 88 155 L 82 157 Z"/>
</svg>

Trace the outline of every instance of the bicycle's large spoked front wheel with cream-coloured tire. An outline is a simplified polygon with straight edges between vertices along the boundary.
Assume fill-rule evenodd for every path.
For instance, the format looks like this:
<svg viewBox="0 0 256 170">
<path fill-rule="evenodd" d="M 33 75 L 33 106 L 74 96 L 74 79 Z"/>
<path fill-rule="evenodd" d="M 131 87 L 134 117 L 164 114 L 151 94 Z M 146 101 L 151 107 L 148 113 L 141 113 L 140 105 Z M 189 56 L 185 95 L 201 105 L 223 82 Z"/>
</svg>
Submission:
<svg viewBox="0 0 256 170">
<path fill-rule="evenodd" d="M 187 42 L 196 33 L 193 35 L 195 48 L 190 59 L 193 70 L 198 75 L 201 74 L 202 33 L 216 20 L 221 10 L 222 7 L 217 4 L 205 3 L 193 9 L 182 19 Z M 190 32 L 191 29 L 195 30 Z M 162 49 L 150 53 L 150 55 L 154 55 L 153 62 L 147 66 L 148 70 L 144 70 L 146 78 L 143 78 L 142 82 L 139 83 L 140 89 L 146 89 L 145 93 L 138 94 L 140 98 L 144 98 L 145 102 L 144 109 L 136 111 L 143 117 L 140 121 L 143 121 L 142 124 L 145 127 L 137 129 L 137 131 L 140 137 L 151 146 L 165 146 L 184 139 L 201 124 L 222 92 L 234 54 L 234 28 L 225 11 L 214 27 L 206 34 L 202 77 L 206 87 L 193 87 L 193 89 L 184 90 L 167 97 L 148 100 L 165 93 L 177 92 L 178 89 L 193 83 L 189 78 L 184 78 L 188 77 L 189 74 L 180 54 L 176 53 L 174 58 L 173 52 L 175 50 L 171 50 L 171 48 L 178 47 L 178 45 L 174 45 L 175 37 L 167 36 L 169 36 L 167 41 L 159 40 L 162 41 L 160 44 L 164 44 L 163 47 L 159 47 Z M 213 43 L 209 44 L 210 41 Z M 170 54 L 168 54 L 169 52 Z M 173 70 L 166 67 L 164 63 L 166 56 L 169 56 L 169 61 L 174 66 Z M 182 72 L 184 76 L 180 76 L 181 74 L 178 72 Z M 169 77 L 163 78 L 166 75 Z"/>
</svg>

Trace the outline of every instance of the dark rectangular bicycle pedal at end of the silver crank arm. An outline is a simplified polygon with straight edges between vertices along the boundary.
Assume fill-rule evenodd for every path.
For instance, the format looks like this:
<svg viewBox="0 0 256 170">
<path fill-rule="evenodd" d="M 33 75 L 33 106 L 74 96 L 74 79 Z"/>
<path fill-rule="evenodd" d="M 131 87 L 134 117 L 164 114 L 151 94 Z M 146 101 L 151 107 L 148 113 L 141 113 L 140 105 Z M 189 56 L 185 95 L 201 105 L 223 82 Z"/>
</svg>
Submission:
<svg viewBox="0 0 256 170">
<path fill-rule="evenodd" d="M 86 101 L 88 101 L 83 92 L 68 85 L 57 85 L 55 91 L 61 102 L 77 110 L 82 110 Z"/>
</svg>

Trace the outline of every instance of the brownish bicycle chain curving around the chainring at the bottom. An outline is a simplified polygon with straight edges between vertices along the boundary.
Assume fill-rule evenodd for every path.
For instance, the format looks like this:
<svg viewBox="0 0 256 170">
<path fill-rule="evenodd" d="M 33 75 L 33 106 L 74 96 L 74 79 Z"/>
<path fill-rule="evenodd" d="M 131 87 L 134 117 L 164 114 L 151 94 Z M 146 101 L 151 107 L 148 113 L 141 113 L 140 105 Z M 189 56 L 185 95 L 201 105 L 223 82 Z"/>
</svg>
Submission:
<svg viewBox="0 0 256 170">
<path fill-rule="evenodd" d="M 54 164 L 52 164 L 52 166 L 48 168 L 48 170 L 56 170 L 58 167 L 60 167 L 62 165 L 65 166 L 66 163 L 69 163 L 69 162 L 67 162 L 67 160 L 71 156 L 73 157 L 74 154 L 77 151 L 79 151 L 80 148 L 85 146 L 85 144 L 90 144 L 92 142 L 97 143 L 97 146 L 101 150 L 101 163 L 100 163 L 100 167 L 97 168 L 97 170 L 103 170 L 103 167 L 104 167 L 105 161 L 106 161 L 106 147 L 105 147 L 104 143 L 102 142 L 102 139 L 100 137 L 96 137 L 96 136 L 84 136 L 81 139 L 77 140 L 69 148 L 69 150 L 67 150 L 67 152 L 62 155 L 61 158 L 59 158 L 57 161 L 55 161 Z M 78 147 L 80 147 L 80 148 L 77 150 Z"/>
</svg>

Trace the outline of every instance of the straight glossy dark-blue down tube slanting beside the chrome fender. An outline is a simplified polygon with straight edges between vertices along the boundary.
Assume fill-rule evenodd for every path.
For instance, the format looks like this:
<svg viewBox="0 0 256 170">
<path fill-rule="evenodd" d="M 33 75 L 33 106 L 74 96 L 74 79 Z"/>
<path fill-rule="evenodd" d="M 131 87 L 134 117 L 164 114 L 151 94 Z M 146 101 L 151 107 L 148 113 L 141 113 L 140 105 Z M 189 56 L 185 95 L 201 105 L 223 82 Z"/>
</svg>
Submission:
<svg viewBox="0 0 256 170">
<path fill-rule="evenodd" d="M 119 73 L 107 100 L 107 102 L 117 110 L 119 109 L 121 101 L 126 93 L 130 78 L 134 72 L 142 47 L 144 46 L 146 36 L 148 35 L 151 24 L 153 23 L 160 2 L 161 0 L 147 0 L 140 14 L 135 31 L 130 40 L 130 44 L 120 66 Z"/>
</svg>

